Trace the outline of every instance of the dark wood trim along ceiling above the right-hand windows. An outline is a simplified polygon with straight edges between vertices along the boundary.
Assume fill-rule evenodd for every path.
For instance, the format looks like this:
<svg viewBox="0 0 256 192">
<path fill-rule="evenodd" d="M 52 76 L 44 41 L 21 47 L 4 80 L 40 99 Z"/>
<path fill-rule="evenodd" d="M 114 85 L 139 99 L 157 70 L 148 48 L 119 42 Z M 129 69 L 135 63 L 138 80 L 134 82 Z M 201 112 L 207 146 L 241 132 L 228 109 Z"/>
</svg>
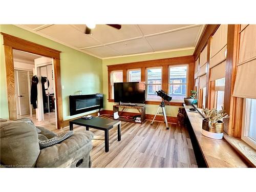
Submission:
<svg viewBox="0 0 256 192">
<path fill-rule="evenodd" d="M 218 25 L 206 25 L 204 28 L 204 31 L 199 39 L 199 42 L 196 46 L 196 49 L 194 51 L 195 60 L 199 57 L 200 52 L 204 49 L 204 47 L 207 44 L 208 38 L 213 35 L 217 29 L 220 27 L 220 24 Z"/>
</svg>

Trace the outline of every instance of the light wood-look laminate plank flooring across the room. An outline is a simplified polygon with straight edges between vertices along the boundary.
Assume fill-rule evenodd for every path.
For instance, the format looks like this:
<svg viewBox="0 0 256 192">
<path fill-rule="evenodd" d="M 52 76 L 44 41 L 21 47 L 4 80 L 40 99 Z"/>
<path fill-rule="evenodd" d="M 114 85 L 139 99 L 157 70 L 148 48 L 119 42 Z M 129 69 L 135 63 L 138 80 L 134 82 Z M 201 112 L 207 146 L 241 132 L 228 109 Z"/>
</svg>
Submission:
<svg viewBox="0 0 256 192">
<path fill-rule="evenodd" d="M 101 115 L 103 118 L 112 116 Z M 57 130 L 54 125 L 36 122 L 38 126 L 60 134 L 69 127 Z M 145 121 L 143 124 L 121 122 L 121 141 L 117 141 L 117 128 L 109 132 L 110 151 L 104 151 L 104 132 L 90 128 L 94 133 L 91 152 L 92 167 L 197 167 L 193 147 L 186 127 L 163 122 Z M 74 125 L 74 132 L 85 127 Z"/>
</svg>

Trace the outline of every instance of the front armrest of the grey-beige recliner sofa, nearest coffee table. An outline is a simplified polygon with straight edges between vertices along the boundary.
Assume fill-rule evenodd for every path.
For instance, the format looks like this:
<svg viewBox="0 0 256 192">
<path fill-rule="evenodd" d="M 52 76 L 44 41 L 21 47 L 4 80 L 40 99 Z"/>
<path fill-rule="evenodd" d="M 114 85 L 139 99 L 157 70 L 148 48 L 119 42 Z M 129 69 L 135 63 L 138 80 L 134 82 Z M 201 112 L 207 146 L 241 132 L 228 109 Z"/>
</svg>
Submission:
<svg viewBox="0 0 256 192">
<path fill-rule="evenodd" d="M 61 143 L 42 149 L 36 167 L 90 167 L 93 137 L 90 131 L 78 131 Z"/>
</svg>

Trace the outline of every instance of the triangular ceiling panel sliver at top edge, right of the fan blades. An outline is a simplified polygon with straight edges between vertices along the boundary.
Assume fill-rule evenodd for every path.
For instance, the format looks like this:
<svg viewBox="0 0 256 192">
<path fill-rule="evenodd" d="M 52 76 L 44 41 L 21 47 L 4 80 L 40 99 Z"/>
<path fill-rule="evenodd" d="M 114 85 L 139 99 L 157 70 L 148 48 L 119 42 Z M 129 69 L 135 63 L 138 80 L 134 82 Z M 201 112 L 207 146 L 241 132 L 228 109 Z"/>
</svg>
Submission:
<svg viewBox="0 0 256 192">
<path fill-rule="evenodd" d="M 138 25 L 144 35 L 174 30 L 190 25 Z"/>
</svg>

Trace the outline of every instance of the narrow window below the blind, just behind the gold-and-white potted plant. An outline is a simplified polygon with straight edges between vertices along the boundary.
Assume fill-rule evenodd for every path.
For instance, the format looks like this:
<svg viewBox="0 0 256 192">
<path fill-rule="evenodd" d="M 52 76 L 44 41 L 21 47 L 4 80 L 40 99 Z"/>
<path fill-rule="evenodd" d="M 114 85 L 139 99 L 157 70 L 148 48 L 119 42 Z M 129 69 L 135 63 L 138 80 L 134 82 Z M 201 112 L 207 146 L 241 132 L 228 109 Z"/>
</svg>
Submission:
<svg viewBox="0 0 256 192">
<path fill-rule="evenodd" d="M 225 77 L 215 80 L 215 95 L 216 103 L 215 108 L 217 110 L 222 110 L 224 106 L 224 89 L 225 89 Z"/>
</svg>

